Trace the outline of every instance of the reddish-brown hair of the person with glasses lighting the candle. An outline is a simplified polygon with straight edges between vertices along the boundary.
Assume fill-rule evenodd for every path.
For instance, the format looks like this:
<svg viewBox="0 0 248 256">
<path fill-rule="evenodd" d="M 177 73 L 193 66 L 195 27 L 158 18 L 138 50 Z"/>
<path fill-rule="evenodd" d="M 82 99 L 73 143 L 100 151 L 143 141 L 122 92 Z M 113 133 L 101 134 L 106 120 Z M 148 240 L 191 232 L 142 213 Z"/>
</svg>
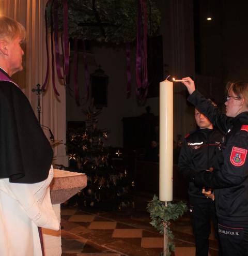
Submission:
<svg viewBox="0 0 248 256">
<path fill-rule="evenodd" d="M 227 94 L 234 92 L 238 97 L 244 99 L 248 107 L 248 81 L 228 82 L 226 85 Z"/>
</svg>

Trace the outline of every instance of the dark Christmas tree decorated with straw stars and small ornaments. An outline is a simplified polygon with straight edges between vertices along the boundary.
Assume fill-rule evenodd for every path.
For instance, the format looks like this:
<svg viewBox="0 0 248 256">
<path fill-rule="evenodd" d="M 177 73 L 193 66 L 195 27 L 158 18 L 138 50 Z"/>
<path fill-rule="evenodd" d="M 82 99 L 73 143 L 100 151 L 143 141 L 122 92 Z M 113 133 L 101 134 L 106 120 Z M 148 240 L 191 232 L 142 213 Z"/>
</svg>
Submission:
<svg viewBox="0 0 248 256">
<path fill-rule="evenodd" d="M 69 203 L 78 207 L 127 207 L 132 204 L 129 192 L 133 185 L 128 166 L 121 161 L 120 150 L 114 152 L 107 145 L 110 131 L 98 128 L 97 116 L 101 111 L 89 108 L 83 113 L 85 127 L 67 130 L 67 153 L 69 169 L 85 173 L 87 187 Z"/>
</svg>

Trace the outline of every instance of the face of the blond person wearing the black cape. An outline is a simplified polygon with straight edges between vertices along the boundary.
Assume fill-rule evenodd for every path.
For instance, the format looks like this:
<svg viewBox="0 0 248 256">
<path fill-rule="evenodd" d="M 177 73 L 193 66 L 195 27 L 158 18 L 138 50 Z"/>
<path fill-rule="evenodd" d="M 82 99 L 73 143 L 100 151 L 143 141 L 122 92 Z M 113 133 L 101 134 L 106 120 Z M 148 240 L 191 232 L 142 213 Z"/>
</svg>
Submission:
<svg viewBox="0 0 248 256">
<path fill-rule="evenodd" d="M 17 36 L 15 39 L 8 43 L 8 65 L 9 65 L 9 76 L 23 70 L 22 56 L 24 52 L 21 48 L 22 39 Z"/>
</svg>

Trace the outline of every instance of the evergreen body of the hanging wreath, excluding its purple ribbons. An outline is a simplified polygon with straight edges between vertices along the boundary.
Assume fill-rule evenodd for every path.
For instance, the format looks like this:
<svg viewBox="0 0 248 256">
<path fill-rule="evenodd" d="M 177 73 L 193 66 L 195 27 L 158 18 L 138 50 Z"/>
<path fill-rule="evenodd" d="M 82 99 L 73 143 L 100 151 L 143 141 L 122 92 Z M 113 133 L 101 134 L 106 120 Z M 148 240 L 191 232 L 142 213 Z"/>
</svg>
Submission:
<svg viewBox="0 0 248 256">
<path fill-rule="evenodd" d="M 136 40 L 137 0 L 70 0 L 68 1 L 69 37 L 99 42 L 132 42 Z M 153 0 L 146 1 L 147 31 L 153 35 L 159 28 L 161 14 Z M 51 4 L 47 11 L 50 12 Z M 58 29 L 63 31 L 63 1 L 58 1 Z M 48 24 L 50 24 L 48 16 Z"/>
</svg>

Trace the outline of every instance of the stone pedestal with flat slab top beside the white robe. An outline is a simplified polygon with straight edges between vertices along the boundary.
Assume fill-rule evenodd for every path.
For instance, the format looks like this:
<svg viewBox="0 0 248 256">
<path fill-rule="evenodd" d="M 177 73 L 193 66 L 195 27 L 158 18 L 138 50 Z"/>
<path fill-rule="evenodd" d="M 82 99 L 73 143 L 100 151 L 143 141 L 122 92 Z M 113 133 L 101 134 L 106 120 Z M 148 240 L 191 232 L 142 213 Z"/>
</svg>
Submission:
<svg viewBox="0 0 248 256">
<path fill-rule="evenodd" d="M 54 212 L 60 222 L 60 204 L 85 188 L 87 176 L 82 173 L 54 169 L 54 178 L 50 184 L 51 201 Z M 42 229 L 45 256 L 60 256 L 60 230 Z"/>
</svg>

